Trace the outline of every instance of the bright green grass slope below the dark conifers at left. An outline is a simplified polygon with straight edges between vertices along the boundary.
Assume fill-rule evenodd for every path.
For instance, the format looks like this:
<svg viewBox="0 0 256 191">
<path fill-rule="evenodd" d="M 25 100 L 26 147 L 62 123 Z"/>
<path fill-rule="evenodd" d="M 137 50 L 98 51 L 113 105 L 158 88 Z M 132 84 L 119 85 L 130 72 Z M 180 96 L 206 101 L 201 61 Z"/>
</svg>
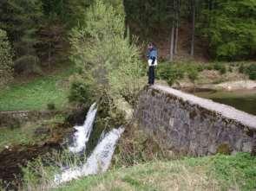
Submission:
<svg viewBox="0 0 256 191">
<path fill-rule="evenodd" d="M 38 77 L 28 83 L 15 83 L 0 90 L 0 111 L 45 110 L 49 103 L 62 108 L 68 102 L 67 80 L 73 67 L 57 74 Z"/>
</svg>

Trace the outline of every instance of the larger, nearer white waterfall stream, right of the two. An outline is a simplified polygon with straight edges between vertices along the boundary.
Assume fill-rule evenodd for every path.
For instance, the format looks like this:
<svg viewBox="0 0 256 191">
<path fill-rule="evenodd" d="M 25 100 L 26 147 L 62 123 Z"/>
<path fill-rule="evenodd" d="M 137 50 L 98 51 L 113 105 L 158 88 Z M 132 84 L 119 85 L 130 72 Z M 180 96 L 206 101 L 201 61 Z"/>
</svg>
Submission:
<svg viewBox="0 0 256 191">
<path fill-rule="evenodd" d="M 56 184 L 71 181 L 86 175 L 95 175 L 97 173 L 105 172 L 110 165 L 115 151 L 115 145 L 121 137 L 123 131 L 124 128 L 109 131 L 102 138 L 102 141 L 97 144 L 87 162 L 82 167 L 66 169 L 62 172 L 62 174 L 56 175 Z"/>
</svg>

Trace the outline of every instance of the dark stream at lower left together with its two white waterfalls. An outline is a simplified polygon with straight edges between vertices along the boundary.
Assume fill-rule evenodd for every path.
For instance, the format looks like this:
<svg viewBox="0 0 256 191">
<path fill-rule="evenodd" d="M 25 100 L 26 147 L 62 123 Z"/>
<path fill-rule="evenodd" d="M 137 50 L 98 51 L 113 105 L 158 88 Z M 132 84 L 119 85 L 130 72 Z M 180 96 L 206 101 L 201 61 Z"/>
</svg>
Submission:
<svg viewBox="0 0 256 191">
<path fill-rule="evenodd" d="M 63 133 L 63 138 L 56 140 L 55 143 L 44 143 L 41 146 L 16 146 L 3 150 L 0 153 L 0 181 L 2 181 L 0 185 L 2 184 L 2 188 L 4 190 L 18 190 L 23 183 L 21 167 L 26 166 L 28 162 L 33 161 L 36 157 L 44 156 L 46 153 L 54 152 L 54 150 L 67 151 L 71 157 L 74 157 L 74 159 L 81 158 L 82 161 L 75 166 L 63 164 L 62 168 L 55 172 L 53 180 L 47 185 L 50 188 L 82 176 L 95 175 L 106 171 L 124 128 L 113 128 L 107 132 L 102 131 L 100 135 L 95 135 L 93 127 L 96 112 L 96 104 L 91 105 L 84 123 L 75 125 L 74 131 L 69 129 L 67 133 L 63 133 L 64 129 L 60 130 Z M 90 141 L 96 142 L 94 147 L 89 145 Z M 86 155 L 86 160 L 83 160 L 84 155 Z"/>
</svg>

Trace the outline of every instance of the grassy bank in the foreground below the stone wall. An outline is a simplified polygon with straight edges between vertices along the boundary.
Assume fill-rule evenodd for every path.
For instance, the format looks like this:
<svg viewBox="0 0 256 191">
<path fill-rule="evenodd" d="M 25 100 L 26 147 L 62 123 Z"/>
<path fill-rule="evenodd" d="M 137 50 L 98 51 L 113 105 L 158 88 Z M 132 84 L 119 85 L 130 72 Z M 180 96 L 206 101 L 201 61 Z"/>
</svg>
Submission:
<svg viewBox="0 0 256 191">
<path fill-rule="evenodd" d="M 256 158 L 207 156 L 180 161 L 148 162 L 104 175 L 71 181 L 56 191 L 82 190 L 255 190 Z"/>
</svg>

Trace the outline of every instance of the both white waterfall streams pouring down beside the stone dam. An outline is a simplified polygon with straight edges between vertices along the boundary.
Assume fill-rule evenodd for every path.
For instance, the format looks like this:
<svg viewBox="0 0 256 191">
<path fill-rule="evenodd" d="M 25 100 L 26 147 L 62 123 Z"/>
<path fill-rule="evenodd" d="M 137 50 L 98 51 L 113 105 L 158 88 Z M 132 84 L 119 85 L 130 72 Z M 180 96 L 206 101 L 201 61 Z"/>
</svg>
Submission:
<svg viewBox="0 0 256 191">
<path fill-rule="evenodd" d="M 69 147 L 71 152 L 77 153 L 85 150 L 90 132 L 92 131 L 96 111 L 97 109 L 95 109 L 94 104 L 89 109 L 85 123 L 82 126 L 75 126 L 75 129 L 77 130 L 75 132 L 75 146 Z M 124 128 L 122 127 L 119 129 L 113 129 L 108 133 L 103 131 L 95 150 L 93 150 L 87 161 L 81 166 L 64 169 L 61 174 L 55 175 L 55 185 L 71 181 L 82 176 L 105 172 L 111 163 L 116 143 L 121 137 L 123 131 Z"/>
</svg>

